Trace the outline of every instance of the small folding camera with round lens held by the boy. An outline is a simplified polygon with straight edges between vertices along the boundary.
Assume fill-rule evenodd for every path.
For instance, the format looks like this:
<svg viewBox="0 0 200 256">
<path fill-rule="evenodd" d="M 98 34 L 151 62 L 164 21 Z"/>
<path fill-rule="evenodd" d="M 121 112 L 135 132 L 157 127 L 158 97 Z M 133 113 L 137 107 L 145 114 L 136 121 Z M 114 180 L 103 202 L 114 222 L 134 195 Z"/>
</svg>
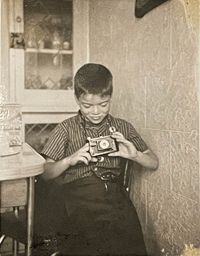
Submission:
<svg viewBox="0 0 200 256">
<path fill-rule="evenodd" d="M 118 151 L 118 143 L 110 135 L 91 139 L 87 138 L 90 148 L 93 149 L 91 156 L 109 154 Z"/>
</svg>

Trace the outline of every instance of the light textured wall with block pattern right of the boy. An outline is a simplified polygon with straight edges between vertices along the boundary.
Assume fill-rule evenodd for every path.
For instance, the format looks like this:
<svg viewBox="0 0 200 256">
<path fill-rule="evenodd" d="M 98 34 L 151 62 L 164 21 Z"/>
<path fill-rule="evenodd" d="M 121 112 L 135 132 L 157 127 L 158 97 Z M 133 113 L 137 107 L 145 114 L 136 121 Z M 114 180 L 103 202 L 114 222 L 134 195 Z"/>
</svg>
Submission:
<svg viewBox="0 0 200 256">
<path fill-rule="evenodd" d="M 160 159 L 135 168 L 131 199 L 149 254 L 199 241 L 198 0 L 134 16 L 134 0 L 90 0 L 90 61 L 114 75 L 112 112 L 131 121 Z"/>
</svg>

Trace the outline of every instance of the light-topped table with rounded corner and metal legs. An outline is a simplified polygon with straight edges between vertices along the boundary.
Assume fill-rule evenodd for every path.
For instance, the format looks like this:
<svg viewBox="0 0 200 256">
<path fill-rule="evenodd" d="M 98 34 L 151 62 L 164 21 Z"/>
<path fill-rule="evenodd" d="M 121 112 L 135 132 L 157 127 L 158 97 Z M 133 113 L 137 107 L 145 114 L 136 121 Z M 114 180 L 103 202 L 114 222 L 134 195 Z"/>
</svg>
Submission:
<svg viewBox="0 0 200 256">
<path fill-rule="evenodd" d="M 34 235 L 35 176 L 44 172 L 45 159 L 27 143 L 12 148 L 16 154 L 0 157 L 1 208 L 14 207 L 17 216 L 19 207 L 27 205 L 26 255 L 30 256 Z M 16 255 L 16 249 L 14 251 Z"/>
</svg>

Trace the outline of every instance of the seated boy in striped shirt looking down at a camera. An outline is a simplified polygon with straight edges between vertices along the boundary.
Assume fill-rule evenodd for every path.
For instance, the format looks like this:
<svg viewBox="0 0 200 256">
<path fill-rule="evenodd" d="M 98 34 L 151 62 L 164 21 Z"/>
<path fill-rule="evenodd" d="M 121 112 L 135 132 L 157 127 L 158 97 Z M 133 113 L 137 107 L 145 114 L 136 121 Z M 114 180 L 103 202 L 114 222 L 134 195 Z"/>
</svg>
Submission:
<svg viewBox="0 0 200 256">
<path fill-rule="evenodd" d="M 136 210 L 119 184 L 122 159 L 156 170 L 159 161 L 134 127 L 109 114 L 113 77 L 100 64 L 86 64 L 74 78 L 80 110 L 61 122 L 45 145 L 43 179 L 54 181 L 54 229 L 62 255 L 145 255 Z M 118 151 L 94 155 L 113 143 Z M 105 142 L 106 141 L 106 142 Z M 58 203 L 59 202 L 59 203 Z M 51 218 L 53 224 L 53 217 Z"/>
</svg>

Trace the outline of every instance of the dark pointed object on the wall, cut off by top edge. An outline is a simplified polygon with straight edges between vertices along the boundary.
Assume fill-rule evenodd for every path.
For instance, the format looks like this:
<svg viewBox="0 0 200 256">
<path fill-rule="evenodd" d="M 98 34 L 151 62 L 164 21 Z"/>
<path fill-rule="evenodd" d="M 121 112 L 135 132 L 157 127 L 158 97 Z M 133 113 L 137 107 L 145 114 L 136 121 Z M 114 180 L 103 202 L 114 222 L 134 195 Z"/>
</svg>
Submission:
<svg viewBox="0 0 200 256">
<path fill-rule="evenodd" d="M 136 0 L 135 16 L 142 18 L 146 13 L 169 0 Z"/>
</svg>

